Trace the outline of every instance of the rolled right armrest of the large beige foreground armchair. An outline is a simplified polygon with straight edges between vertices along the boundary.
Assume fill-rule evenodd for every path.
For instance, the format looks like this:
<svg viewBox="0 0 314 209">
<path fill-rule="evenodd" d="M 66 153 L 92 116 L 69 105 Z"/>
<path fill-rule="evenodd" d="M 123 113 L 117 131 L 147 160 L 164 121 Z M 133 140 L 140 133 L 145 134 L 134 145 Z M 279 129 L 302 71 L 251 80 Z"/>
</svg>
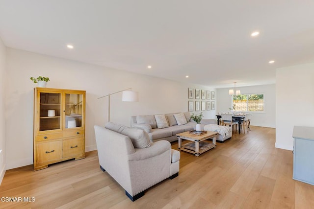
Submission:
<svg viewBox="0 0 314 209">
<path fill-rule="evenodd" d="M 164 152 L 171 150 L 171 144 L 169 141 L 160 140 L 151 144 L 147 148 L 135 148 L 135 153 L 128 155 L 129 161 L 139 161 L 152 158 L 154 156 L 160 155 Z M 170 157 L 170 156 L 169 156 Z"/>
</svg>

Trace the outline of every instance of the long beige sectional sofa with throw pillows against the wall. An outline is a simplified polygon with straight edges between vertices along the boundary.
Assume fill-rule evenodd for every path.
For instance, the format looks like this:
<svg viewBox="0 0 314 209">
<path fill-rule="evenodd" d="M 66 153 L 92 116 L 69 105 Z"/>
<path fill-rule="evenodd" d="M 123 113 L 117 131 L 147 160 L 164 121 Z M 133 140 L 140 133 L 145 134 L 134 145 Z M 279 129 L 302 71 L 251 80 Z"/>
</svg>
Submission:
<svg viewBox="0 0 314 209">
<path fill-rule="evenodd" d="M 231 127 L 218 126 L 215 119 L 203 119 L 201 121 L 202 130 L 216 131 L 218 137 L 216 141 L 223 142 L 232 137 Z M 194 130 L 196 122 L 191 119 L 189 112 L 131 116 L 131 127 L 145 130 L 151 141 L 177 140 L 176 134 Z M 226 133 L 227 132 L 227 133 Z"/>
</svg>

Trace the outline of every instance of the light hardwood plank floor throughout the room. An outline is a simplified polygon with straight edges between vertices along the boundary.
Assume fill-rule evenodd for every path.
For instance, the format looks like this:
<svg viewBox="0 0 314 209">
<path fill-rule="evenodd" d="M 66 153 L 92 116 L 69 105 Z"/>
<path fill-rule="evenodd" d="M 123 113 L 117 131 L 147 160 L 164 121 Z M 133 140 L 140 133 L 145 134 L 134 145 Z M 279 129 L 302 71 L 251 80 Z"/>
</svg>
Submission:
<svg viewBox="0 0 314 209">
<path fill-rule="evenodd" d="M 200 157 L 181 152 L 179 176 L 149 188 L 135 202 L 100 170 L 92 151 L 85 159 L 39 171 L 32 165 L 7 170 L 0 198 L 34 197 L 35 202 L 0 202 L 0 208 L 314 208 L 314 186 L 292 180 L 292 152 L 275 148 L 275 129 L 251 130 L 233 133 Z"/>
</svg>

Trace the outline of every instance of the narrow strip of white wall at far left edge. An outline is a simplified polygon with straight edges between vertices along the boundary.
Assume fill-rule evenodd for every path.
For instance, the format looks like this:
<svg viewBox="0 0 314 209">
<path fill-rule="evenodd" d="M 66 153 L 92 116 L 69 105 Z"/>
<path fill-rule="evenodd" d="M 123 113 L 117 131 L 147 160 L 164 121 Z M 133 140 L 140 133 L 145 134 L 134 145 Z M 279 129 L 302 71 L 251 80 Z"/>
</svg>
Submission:
<svg viewBox="0 0 314 209">
<path fill-rule="evenodd" d="M 6 47 L 0 38 L 0 184 L 5 173 L 5 50 Z"/>
</svg>

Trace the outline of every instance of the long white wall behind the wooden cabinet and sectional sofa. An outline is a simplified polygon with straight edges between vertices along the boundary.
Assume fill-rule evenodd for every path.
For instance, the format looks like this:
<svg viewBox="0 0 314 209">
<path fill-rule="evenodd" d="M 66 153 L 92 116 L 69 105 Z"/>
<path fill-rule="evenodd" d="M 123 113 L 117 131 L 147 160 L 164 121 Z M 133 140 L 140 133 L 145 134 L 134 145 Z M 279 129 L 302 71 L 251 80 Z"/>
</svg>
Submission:
<svg viewBox="0 0 314 209">
<path fill-rule="evenodd" d="M 132 88 L 139 102 L 111 96 L 110 121 L 130 125 L 130 116 L 187 111 L 187 88 L 210 90 L 166 79 L 54 58 L 7 48 L 6 163 L 7 169 L 33 163 L 33 88 L 31 76 L 46 76 L 49 88 L 86 90 L 86 151 L 96 149 L 94 125 L 107 121 L 108 93 Z M 185 82 L 186 78 L 183 78 Z M 195 99 L 193 99 L 195 100 Z M 214 118 L 215 111 L 203 111 Z"/>
</svg>

